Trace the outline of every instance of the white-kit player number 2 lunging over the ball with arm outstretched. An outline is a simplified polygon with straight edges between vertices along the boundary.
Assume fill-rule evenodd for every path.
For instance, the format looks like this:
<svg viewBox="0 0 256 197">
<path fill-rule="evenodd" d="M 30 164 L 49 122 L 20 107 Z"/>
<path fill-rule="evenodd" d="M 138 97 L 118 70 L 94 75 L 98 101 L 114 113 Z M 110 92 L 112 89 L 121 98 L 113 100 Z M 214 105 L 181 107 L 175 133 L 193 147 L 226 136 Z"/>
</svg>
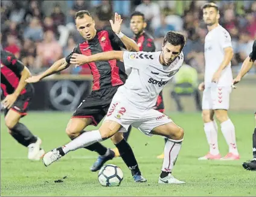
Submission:
<svg viewBox="0 0 256 197">
<path fill-rule="evenodd" d="M 91 56 L 73 54 L 72 64 L 117 59 L 123 61 L 126 68 L 132 67 L 132 72 L 126 83 L 115 93 L 101 127 L 83 133 L 65 146 L 47 152 L 43 157 L 45 166 L 59 160 L 69 151 L 106 140 L 118 131 L 126 132 L 132 125 L 147 136 L 155 134 L 168 138 L 158 183 L 185 183 L 171 175 L 181 149 L 184 130 L 174 124 L 168 116 L 153 109 L 165 84 L 182 66 L 184 61 L 182 48 L 185 42 L 183 34 L 169 31 L 165 35 L 162 51 L 159 52 L 108 51 Z"/>
</svg>

